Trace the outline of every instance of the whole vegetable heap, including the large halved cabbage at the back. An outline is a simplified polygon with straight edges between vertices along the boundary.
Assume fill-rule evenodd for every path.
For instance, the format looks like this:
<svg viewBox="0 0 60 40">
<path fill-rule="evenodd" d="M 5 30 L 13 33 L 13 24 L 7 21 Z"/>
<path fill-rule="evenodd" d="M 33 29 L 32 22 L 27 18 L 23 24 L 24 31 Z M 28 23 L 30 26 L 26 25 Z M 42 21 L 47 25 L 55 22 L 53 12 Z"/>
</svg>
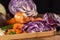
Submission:
<svg viewBox="0 0 60 40">
<path fill-rule="evenodd" d="M 9 10 L 14 15 L 9 20 L 5 14 L 0 14 L 0 35 L 45 32 L 60 26 L 60 16 L 55 13 L 48 12 L 42 18 L 37 17 L 36 5 L 32 0 L 11 0 Z"/>
</svg>

